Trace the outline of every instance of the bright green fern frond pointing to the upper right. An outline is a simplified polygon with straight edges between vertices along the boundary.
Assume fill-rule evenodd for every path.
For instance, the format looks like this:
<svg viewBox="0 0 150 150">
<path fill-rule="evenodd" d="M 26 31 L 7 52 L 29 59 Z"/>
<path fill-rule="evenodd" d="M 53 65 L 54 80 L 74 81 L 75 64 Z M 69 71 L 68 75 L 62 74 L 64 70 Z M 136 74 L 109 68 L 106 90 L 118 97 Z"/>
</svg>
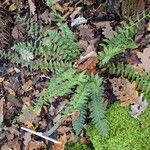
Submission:
<svg viewBox="0 0 150 150">
<path fill-rule="evenodd" d="M 113 38 L 103 40 L 103 43 L 100 44 L 103 47 L 103 51 L 99 54 L 100 65 L 105 65 L 111 58 L 128 48 L 137 47 L 133 41 L 136 28 L 137 23 L 134 21 L 129 20 L 129 23 L 123 21 L 117 31 L 114 32 Z"/>
</svg>

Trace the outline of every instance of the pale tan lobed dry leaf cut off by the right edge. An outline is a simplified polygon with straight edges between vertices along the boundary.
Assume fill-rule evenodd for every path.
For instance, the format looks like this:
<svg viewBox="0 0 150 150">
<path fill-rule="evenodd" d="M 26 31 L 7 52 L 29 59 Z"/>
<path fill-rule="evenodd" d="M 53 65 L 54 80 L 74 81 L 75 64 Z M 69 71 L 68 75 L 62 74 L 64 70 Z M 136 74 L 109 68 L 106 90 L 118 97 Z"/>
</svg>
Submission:
<svg viewBox="0 0 150 150">
<path fill-rule="evenodd" d="M 143 68 L 147 73 L 150 73 L 150 47 L 143 50 L 143 53 L 137 52 L 138 58 L 141 59 L 139 67 Z"/>
</svg>

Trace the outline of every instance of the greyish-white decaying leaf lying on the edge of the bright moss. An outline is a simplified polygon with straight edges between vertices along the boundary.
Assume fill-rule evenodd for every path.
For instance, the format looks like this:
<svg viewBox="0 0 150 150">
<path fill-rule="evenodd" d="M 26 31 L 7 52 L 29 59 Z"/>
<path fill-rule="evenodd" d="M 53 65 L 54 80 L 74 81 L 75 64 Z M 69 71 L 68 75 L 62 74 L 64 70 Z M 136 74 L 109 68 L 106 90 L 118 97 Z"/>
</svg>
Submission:
<svg viewBox="0 0 150 150">
<path fill-rule="evenodd" d="M 131 105 L 131 112 L 129 114 L 135 118 L 138 119 L 138 116 L 141 115 L 145 111 L 145 109 L 148 106 L 148 102 L 146 99 L 143 100 L 143 94 L 139 96 L 133 105 Z"/>
</svg>

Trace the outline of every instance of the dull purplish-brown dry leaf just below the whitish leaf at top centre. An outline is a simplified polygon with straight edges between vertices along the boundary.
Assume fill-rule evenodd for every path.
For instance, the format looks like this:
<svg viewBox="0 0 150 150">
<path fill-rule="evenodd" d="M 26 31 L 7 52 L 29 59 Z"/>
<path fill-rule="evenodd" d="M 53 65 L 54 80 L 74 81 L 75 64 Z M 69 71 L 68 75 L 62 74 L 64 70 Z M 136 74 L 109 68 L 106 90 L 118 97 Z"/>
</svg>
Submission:
<svg viewBox="0 0 150 150">
<path fill-rule="evenodd" d="M 79 31 L 82 40 L 90 41 L 94 38 L 93 29 L 89 29 L 88 25 L 80 25 Z"/>
</svg>

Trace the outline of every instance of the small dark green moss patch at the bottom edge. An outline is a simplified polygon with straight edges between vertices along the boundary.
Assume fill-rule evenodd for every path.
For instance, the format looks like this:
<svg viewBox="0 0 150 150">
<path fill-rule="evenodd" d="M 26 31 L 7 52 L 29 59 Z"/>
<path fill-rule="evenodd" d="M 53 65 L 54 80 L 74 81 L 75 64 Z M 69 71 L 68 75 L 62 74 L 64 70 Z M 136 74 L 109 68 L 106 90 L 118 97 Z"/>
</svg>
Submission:
<svg viewBox="0 0 150 150">
<path fill-rule="evenodd" d="M 82 144 L 81 142 L 69 142 L 65 150 L 92 150 L 90 145 Z"/>
</svg>

